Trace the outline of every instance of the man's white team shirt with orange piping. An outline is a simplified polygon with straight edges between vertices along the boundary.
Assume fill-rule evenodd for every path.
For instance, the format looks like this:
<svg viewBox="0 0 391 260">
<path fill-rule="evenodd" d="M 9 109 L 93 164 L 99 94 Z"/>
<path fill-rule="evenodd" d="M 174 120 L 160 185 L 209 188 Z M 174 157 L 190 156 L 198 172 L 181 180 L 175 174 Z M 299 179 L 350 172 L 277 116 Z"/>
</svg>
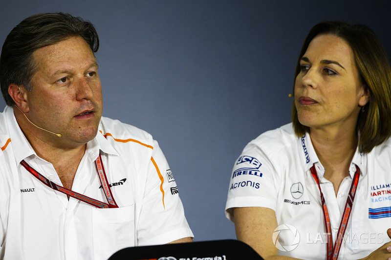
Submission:
<svg viewBox="0 0 391 260">
<path fill-rule="evenodd" d="M 0 258 L 100 260 L 125 247 L 193 237 L 158 143 L 136 127 L 102 118 L 72 185 L 72 191 L 107 203 L 95 167 L 100 153 L 119 208 L 68 200 L 26 171 L 21 160 L 62 186 L 10 107 L 0 113 L 0 148 Z"/>
</svg>

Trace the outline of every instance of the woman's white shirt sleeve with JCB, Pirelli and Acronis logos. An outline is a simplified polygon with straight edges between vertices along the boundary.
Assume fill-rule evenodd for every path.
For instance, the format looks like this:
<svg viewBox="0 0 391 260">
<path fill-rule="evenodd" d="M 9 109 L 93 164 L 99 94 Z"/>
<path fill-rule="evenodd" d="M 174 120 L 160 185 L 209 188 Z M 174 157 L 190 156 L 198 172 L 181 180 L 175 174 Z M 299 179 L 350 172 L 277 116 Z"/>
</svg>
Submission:
<svg viewBox="0 0 391 260">
<path fill-rule="evenodd" d="M 250 142 L 234 164 L 228 188 L 226 217 L 234 221 L 233 208 L 266 207 L 276 211 L 281 185 L 278 165 L 255 141 Z"/>
</svg>

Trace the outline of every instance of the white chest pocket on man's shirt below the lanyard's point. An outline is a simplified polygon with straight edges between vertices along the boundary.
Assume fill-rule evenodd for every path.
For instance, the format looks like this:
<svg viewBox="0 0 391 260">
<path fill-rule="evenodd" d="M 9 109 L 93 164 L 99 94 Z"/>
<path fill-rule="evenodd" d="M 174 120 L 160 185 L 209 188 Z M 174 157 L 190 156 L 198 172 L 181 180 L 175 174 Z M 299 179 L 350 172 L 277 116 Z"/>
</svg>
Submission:
<svg viewBox="0 0 391 260">
<path fill-rule="evenodd" d="M 106 260 L 118 250 L 135 246 L 134 203 L 110 209 L 93 209 L 92 228 L 95 260 Z"/>
</svg>

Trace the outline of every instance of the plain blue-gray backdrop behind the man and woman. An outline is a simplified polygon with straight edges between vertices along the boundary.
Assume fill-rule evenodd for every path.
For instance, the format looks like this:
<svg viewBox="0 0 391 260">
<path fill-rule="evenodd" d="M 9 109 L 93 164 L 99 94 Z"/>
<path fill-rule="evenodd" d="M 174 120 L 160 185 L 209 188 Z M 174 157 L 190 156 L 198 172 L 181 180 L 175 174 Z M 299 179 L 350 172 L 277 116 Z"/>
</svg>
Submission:
<svg viewBox="0 0 391 260">
<path fill-rule="evenodd" d="M 305 35 L 323 20 L 364 23 L 390 54 L 382 2 L 0 0 L 0 42 L 36 13 L 90 20 L 100 37 L 103 115 L 159 141 L 195 240 L 233 239 L 224 216 L 232 166 L 250 140 L 290 121 Z"/>
</svg>

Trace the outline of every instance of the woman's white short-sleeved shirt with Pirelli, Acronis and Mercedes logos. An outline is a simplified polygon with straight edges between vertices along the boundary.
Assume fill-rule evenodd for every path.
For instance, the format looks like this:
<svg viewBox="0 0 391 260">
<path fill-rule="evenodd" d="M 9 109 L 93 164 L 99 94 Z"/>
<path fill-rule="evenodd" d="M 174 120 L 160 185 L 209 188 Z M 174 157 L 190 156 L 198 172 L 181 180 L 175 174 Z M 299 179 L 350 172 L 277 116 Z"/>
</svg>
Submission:
<svg viewBox="0 0 391 260">
<path fill-rule="evenodd" d="M 326 259 L 327 235 L 322 202 L 310 168 L 315 165 L 335 241 L 358 167 L 360 179 L 339 259 L 366 257 L 390 241 L 387 235 L 387 229 L 391 228 L 390 159 L 390 140 L 375 147 L 369 154 L 357 150 L 350 164 L 349 176 L 342 181 L 335 195 L 333 184 L 323 177 L 325 170 L 309 135 L 297 138 L 292 124 L 284 125 L 252 140 L 235 162 L 226 216 L 234 220 L 235 207 L 273 209 L 279 225 L 276 230 L 279 239 L 275 241 L 277 236 L 274 236 L 273 242 L 281 249 L 278 251 L 280 255 Z M 298 233 L 294 234 L 295 229 L 289 229 L 289 225 Z"/>
</svg>

